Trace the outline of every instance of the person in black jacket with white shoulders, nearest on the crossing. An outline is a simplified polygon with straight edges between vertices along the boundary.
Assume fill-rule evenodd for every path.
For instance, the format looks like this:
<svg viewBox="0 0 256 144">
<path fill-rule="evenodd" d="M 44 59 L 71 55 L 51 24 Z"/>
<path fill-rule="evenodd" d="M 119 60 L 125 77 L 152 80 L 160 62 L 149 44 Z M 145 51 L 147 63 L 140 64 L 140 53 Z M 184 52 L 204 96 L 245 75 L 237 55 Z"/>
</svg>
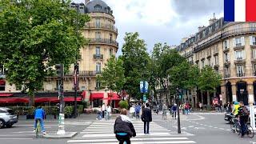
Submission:
<svg viewBox="0 0 256 144">
<path fill-rule="evenodd" d="M 124 142 L 130 144 L 130 138 L 136 136 L 133 123 L 127 117 L 126 109 L 121 110 L 121 115 L 114 122 L 114 134 L 116 134 L 115 137 L 118 139 L 119 144 Z"/>
</svg>

